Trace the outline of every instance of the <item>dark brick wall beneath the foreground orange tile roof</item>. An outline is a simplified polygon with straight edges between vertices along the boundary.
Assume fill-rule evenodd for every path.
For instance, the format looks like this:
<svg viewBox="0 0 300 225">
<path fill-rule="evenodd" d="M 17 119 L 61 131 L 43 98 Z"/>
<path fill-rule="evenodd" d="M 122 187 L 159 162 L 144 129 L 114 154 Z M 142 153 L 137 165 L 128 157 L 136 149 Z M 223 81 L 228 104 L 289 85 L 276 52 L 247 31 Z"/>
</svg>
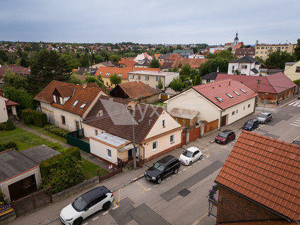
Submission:
<svg viewBox="0 0 300 225">
<path fill-rule="evenodd" d="M 217 224 L 268 220 L 282 220 L 282 217 L 220 186 L 217 203 Z"/>
</svg>

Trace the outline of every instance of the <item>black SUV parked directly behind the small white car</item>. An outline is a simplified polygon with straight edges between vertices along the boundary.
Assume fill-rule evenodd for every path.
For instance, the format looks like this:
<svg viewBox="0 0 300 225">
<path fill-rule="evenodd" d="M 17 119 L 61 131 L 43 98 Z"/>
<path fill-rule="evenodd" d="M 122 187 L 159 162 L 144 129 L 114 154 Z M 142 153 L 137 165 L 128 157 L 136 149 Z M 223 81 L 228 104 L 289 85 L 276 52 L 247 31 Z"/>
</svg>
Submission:
<svg viewBox="0 0 300 225">
<path fill-rule="evenodd" d="M 145 178 L 148 181 L 162 183 L 162 179 L 169 174 L 177 174 L 180 167 L 179 160 L 172 155 L 158 160 L 152 167 L 145 171 Z"/>
</svg>

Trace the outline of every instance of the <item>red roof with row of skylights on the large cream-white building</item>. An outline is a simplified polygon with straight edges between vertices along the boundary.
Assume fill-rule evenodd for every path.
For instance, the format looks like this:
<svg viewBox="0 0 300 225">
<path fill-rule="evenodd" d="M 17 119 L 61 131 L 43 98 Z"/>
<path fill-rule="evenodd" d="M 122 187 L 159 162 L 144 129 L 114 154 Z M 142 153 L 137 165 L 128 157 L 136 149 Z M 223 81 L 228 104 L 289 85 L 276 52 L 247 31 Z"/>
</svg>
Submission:
<svg viewBox="0 0 300 225">
<path fill-rule="evenodd" d="M 210 102 L 217 105 L 217 107 L 220 107 L 220 109 L 227 109 L 235 104 L 239 104 L 247 99 L 257 96 L 256 92 L 253 92 L 253 90 L 246 87 L 246 85 L 231 79 L 197 85 L 192 88 L 203 95 L 203 97 L 210 100 Z M 246 93 L 241 90 L 244 90 Z M 237 92 L 239 95 L 236 95 L 234 92 Z M 232 97 L 229 97 L 227 94 Z M 222 102 L 217 98 L 222 99 Z"/>
</svg>

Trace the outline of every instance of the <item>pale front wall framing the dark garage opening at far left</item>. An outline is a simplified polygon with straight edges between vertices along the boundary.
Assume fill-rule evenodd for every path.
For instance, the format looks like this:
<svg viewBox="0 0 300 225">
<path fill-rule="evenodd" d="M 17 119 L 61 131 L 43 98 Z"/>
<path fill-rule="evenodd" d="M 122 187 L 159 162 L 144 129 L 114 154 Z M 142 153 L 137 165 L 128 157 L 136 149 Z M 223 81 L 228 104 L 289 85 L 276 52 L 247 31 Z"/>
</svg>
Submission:
<svg viewBox="0 0 300 225">
<path fill-rule="evenodd" d="M 20 174 L 18 176 L 15 176 L 7 181 L 4 181 L 0 183 L 1 192 L 4 193 L 5 198 L 4 200 L 6 202 L 11 202 L 11 198 L 9 197 L 9 191 L 8 186 L 10 186 L 12 183 L 16 183 L 20 180 L 23 180 L 24 178 L 27 178 L 28 176 L 35 175 L 35 182 L 37 183 L 37 188 L 41 185 L 42 179 L 40 174 L 40 166 L 37 166 L 37 168 L 32 169 L 30 171 L 25 172 L 24 174 Z"/>
</svg>

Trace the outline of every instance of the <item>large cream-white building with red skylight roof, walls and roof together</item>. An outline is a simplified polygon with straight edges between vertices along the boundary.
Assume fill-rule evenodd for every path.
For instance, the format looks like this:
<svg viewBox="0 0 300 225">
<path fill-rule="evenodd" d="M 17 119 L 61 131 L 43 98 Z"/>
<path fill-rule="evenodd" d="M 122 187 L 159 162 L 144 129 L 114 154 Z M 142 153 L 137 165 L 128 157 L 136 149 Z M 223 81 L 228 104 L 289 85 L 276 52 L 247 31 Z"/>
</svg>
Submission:
<svg viewBox="0 0 300 225">
<path fill-rule="evenodd" d="M 236 80 L 208 83 L 191 87 L 167 99 L 167 110 L 197 111 L 197 121 L 218 120 L 218 129 L 253 114 L 256 92 Z"/>
</svg>

